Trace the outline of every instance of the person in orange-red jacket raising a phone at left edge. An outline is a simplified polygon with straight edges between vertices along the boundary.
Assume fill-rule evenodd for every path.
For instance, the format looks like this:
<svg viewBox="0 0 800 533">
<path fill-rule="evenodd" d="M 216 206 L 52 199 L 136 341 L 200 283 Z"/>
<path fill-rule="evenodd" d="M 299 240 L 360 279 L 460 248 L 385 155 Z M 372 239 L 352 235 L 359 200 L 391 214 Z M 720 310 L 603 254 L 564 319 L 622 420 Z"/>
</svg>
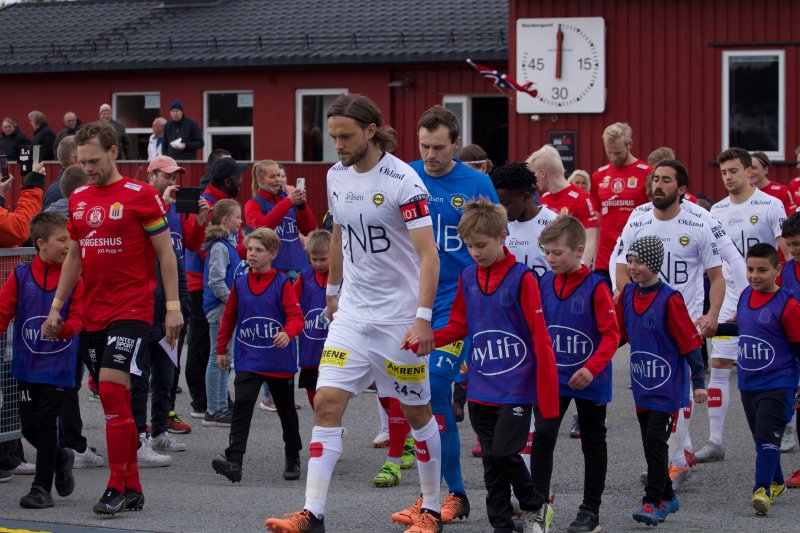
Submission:
<svg viewBox="0 0 800 533">
<path fill-rule="evenodd" d="M 39 165 L 34 172 L 25 177 L 17 200 L 17 208 L 10 211 L 5 208 L 3 197 L 13 183 L 14 176 L 5 181 L 0 177 L 0 248 L 21 246 L 30 237 L 28 223 L 42 208 L 44 165 Z"/>
</svg>

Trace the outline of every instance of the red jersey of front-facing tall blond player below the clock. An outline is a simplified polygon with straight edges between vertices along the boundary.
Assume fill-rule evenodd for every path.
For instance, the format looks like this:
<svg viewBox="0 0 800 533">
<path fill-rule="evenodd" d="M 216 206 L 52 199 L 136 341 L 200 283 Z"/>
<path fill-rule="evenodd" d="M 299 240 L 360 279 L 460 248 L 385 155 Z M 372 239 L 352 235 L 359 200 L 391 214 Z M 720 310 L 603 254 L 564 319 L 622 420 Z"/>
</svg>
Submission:
<svg viewBox="0 0 800 533">
<path fill-rule="evenodd" d="M 592 196 L 600 206 L 600 245 L 595 268 L 608 270 L 608 259 L 631 211 L 649 202 L 645 181 L 653 167 L 637 159 L 630 165 L 615 167 L 611 164 L 598 168 L 592 174 Z"/>
</svg>

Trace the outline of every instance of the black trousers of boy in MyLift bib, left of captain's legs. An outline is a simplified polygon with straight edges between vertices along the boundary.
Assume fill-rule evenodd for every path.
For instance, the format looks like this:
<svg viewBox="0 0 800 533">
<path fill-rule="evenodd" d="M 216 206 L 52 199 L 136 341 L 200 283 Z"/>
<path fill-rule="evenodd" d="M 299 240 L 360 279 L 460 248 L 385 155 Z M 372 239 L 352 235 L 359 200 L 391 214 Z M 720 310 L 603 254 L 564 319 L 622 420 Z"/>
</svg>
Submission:
<svg viewBox="0 0 800 533">
<path fill-rule="evenodd" d="M 237 371 L 233 380 L 236 401 L 233 403 L 231 420 L 230 445 L 225 450 L 229 461 L 239 464 L 247 450 L 247 438 L 250 436 L 250 422 L 253 409 L 258 401 L 261 385 L 266 382 L 272 391 L 272 399 L 278 409 L 278 417 L 283 429 L 284 453 L 287 459 L 300 457 L 303 442 L 300 440 L 300 422 L 297 409 L 294 407 L 294 382 L 292 378 L 273 378 L 247 370 Z"/>
</svg>

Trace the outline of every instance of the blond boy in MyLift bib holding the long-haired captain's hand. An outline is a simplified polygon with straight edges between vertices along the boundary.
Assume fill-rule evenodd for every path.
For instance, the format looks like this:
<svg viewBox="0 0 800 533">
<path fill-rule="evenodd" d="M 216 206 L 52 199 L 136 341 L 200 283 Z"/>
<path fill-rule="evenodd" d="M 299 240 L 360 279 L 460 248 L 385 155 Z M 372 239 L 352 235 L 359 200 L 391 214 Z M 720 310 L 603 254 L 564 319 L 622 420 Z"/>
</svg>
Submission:
<svg viewBox="0 0 800 533">
<path fill-rule="evenodd" d="M 543 419 L 558 416 L 558 376 L 536 278 L 504 246 L 507 223 L 506 210 L 489 200 L 464 205 L 458 232 L 476 264 L 461 273 L 450 321 L 434 337 L 437 346 L 467 335 L 472 341 L 467 400 L 483 449 L 489 522 L 495 531 L 513 530 L 513 488 L 526 527 L 547 531 L 552 508 L 519 452 L 532 404 Z"/>
</svg>

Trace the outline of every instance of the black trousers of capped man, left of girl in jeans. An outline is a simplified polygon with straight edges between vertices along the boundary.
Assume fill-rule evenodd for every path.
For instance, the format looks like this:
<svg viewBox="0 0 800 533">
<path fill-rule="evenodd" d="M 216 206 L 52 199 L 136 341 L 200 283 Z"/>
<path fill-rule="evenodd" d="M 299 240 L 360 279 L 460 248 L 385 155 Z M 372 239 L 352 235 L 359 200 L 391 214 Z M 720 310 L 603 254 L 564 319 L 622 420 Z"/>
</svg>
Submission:
<svg viewBox="0 0 800 533">
<path fill-rule="evenodd" d="M 186 353 L 186 386 L 192 397 L 192 408 L 204 413 L 208 407 L 206 399 L 206 367 L 211 353 L 211 339 L 208 332 L 208 320 L 203 312 L 203 291 L 191 291 L 192 312 L 189 315 L 189 332 Z"/>
</svg>

